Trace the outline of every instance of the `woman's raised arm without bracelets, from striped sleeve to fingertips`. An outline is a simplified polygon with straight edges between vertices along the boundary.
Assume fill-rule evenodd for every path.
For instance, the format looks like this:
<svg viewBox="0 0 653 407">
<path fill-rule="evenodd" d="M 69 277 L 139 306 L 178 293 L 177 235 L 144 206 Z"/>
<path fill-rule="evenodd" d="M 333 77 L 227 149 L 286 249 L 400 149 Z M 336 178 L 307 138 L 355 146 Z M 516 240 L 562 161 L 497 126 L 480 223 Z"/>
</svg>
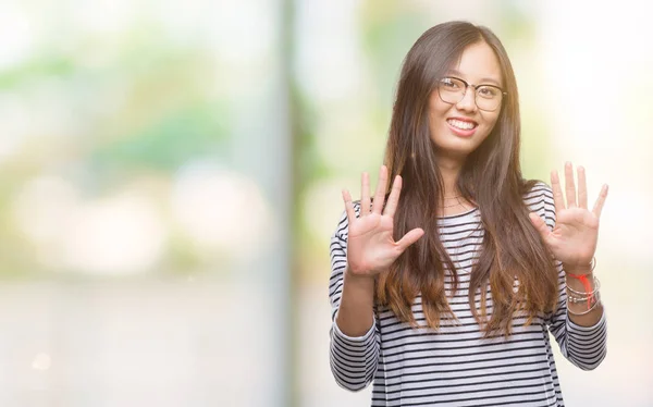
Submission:
<svg viewBox="0 0 653 407">
<path fill-rule="evenodd" d="M 399 201 L 402 177 L 395 176 L 385 201 L 387 168 L 381 166 L 372 202 L 369 174 L 361 176 L 360 203 L 343 190 L 345 213 L 331 238 L 330 296 L 333 307 L 331 368 L 340 385 L 349 390 L 367 386 L 379 360 L 380 335 L 374 323 L 374 279 L 417 242 L 417 227 L 398 242 L 393 236 L 394 213 Z"/>
</svg>

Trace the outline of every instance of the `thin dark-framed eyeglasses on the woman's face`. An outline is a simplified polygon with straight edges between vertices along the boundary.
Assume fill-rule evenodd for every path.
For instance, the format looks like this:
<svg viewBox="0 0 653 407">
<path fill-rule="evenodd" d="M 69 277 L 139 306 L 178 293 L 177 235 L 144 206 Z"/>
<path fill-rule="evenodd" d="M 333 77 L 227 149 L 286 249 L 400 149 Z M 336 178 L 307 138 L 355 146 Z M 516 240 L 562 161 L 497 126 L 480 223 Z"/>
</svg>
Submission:
<svg viewBox="0 0 653 407">
<path fill-rule="evenodd" d="M 443 102 L 455 104 L 465 98 L 468 87 L 471 87 L 475 90 L 475 102 L 477 103 L 477 107 L 489 112 L 498 109 L 504 96 L 508 95 L 498 86 L 471 85 L 459 77 L 454 76 L 446 76 L 438 82 L 438 94 Z"/>
</svg>

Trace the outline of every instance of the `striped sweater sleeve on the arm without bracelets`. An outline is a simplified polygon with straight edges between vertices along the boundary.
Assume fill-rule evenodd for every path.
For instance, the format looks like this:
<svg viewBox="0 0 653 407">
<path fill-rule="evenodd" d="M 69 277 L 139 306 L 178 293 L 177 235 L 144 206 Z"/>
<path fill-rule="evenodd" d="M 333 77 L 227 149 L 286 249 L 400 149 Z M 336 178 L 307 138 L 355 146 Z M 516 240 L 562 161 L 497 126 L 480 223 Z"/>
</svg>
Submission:
<svg viewBox="0 0 653 407">
<path fill-rule="evenodd" d="M 359 206 L 355 206 L 357 215 Z M 380 335 L 377 317 L 372 328 L 362 336 L 347 336 L 335 323 L 343 292 L 343 273 L 347 264 L 347 215 L 343 214 L 331 236 L 331 371 L 336 383 L 350 391 L 367 387 L 372 381 L 379 362 Z"/>
</svg>

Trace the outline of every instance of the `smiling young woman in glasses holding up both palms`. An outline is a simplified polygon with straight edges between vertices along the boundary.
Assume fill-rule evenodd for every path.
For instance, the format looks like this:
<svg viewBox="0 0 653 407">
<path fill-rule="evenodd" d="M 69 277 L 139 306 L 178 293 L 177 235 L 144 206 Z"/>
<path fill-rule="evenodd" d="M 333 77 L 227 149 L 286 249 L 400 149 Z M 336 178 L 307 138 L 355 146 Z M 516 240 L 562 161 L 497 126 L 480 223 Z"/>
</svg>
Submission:
<svg viewBox="0 0 653 407">
<path fill-rule="evenodd" d="M 582 168 L 578 190 L 570 163 L 564 193 L 555 171 L 551 188 L 523 180 L 519 133 L 492 32 L 451 22 L 417 40 L 374 197 L 364 173 L 331 239 L 331 368 L 352 391 L 373 381 L 372 406 L 564 406 L 549 333 L 583 370 L 604 359 L 607 186 L 589 210 Z"/>
</svg>

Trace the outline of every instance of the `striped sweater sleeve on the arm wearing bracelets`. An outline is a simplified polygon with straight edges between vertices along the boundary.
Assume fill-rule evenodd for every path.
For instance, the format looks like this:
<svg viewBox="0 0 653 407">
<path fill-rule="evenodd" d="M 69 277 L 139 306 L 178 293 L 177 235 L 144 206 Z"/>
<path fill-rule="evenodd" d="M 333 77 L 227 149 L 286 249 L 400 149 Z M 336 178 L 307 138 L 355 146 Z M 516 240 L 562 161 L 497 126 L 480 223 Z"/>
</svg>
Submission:
<svg viewBox="0 0 653 407">
<path fill-rule="evenodd" d="M 550 229 L 555 226 L 553 192 L 543 183 L 538 183 L 529 194 L 527 203 L 531 211 L 544 219 Z M 556 260 L 558 271 L 558 301 L 555 311 L 547 318 L 549 331 L 558 343 L 560 353 L 567 360 L 582 370 L 595 369 L 607 353 L 607 325 L 605 311 L 593 326 L 574 323 L 567 313 L 567 289 L 563 263 Z"/>
</svg>

